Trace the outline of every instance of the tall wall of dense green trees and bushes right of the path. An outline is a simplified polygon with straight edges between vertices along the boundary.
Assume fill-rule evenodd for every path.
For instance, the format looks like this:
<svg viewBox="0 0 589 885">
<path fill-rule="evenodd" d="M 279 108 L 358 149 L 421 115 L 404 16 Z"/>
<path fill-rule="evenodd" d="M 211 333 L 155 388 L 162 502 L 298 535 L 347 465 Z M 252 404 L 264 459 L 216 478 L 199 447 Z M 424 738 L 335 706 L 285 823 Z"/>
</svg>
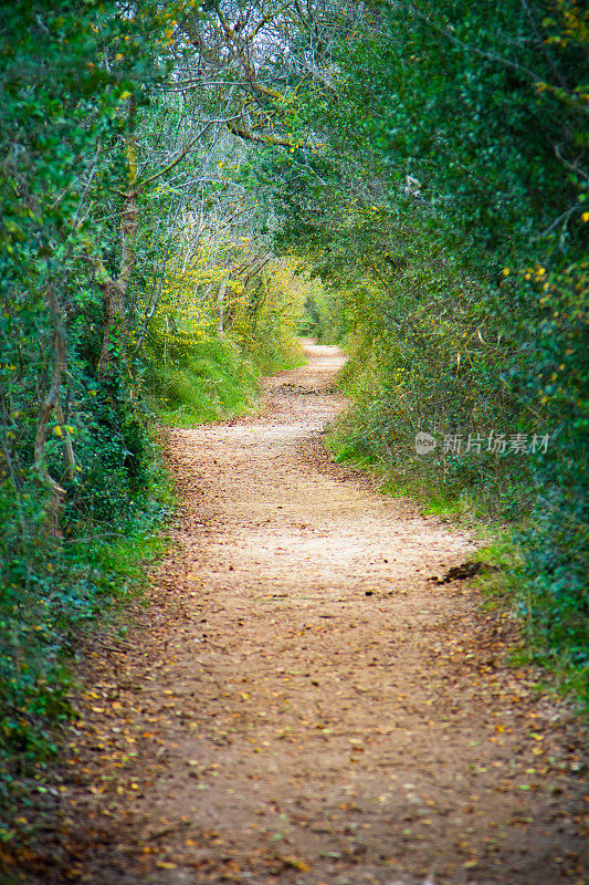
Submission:
<svg viewBox="0 0 589 885">
<path fill-rule="evenodd" d="M 400 0 L 368 7 L 334 51 L 338 101 L 302 91 L 325 133 L 320 156 L 269 152 L 259 175 L 273 183 L 280 248 L 320 275 L 351 354 L 344 381 L 357 405 L 337 429 L 338 457 L 515 525 L 525 568 L 514 594 L 538 654 L 580 665 L 586 13 Z M 420 430 L 438 440 L 428 456 Z M 520 452 L 509 450 L 517 435 Z"/>
</svg>

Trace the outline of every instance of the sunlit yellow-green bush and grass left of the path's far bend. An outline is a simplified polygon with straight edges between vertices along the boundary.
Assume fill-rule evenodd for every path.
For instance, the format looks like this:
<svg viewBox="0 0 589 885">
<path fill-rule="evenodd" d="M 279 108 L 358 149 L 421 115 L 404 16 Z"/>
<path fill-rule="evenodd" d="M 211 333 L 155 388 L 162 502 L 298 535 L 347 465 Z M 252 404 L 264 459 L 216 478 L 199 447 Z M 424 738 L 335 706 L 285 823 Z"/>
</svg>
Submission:
<svg viewBox="0 0 589 885">
<path fill-rule="evenodd" d="M 140 392 L 165 424 L 241 415 L 253 405 L 261 374 L 301 362 L 295 327 L 305 283 L 287 262 L 272 263 L 269 273 L 269 257 L 260 262 L 254 251 L 252 259 L 242 239 L 224 243 L 223 263 L 219 243 L 212 259 L 203 249 L 192 263 L 181 254 L 170 261 L 136 366 Z M 228 273 L 228 252 L 233 268 L 245 268 L 245 283 L 233 268 Z M 204 294 L 194 296 L 200 288 Z"/>
</svg>

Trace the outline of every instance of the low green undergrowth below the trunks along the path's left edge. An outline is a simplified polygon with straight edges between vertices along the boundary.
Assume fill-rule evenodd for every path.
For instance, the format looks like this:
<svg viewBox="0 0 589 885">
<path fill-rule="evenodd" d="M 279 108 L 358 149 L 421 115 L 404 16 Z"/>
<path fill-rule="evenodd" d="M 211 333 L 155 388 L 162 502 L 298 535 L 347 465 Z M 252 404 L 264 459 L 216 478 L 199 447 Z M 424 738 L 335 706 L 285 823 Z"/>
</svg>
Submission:
<svg viewBox="0 0 589 885">
<path fill-rule="evenodd" d="M 145 425 L 141 435 L 148 477 L 141 491 L 135 490 L 122 521 L 108 524 L 98 519 L 102 507 L 75 511 L 72 506 L 61 537 L 24 535 L 12 555 L 4 548 L 0 842 L 11 837 L 14 801 L 28 793 L 31 779 L 39 779 L 59 750 L 55 729 L 72 715 L 72 667 L 84 637 L 104 628 L 140 593 L 146 563 L 165 549 L 159 527 L 173 507 L 171 483 Z M 34 524 L 35 502 L 30 500 L 27 516 Z M 6 523 L 2 541 L 10 530 Z"/>
</svg>

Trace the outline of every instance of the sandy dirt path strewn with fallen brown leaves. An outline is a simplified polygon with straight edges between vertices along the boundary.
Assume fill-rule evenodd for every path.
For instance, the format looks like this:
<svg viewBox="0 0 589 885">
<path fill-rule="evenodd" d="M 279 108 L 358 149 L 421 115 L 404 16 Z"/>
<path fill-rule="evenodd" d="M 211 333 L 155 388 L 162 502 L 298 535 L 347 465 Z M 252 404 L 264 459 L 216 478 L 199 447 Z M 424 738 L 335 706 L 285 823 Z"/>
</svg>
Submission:
<svg viewBox="0 0 589 885">
<path fill-rule="evenodd" d="M 583 879 L 578 726 L 509 617 L 429 580 L 472 540 L 332 464 L 343 356 L 307 354 L 259 416 L 168 431 L 175 544 L 91 656 L 27 881 Z"/>
</svg>

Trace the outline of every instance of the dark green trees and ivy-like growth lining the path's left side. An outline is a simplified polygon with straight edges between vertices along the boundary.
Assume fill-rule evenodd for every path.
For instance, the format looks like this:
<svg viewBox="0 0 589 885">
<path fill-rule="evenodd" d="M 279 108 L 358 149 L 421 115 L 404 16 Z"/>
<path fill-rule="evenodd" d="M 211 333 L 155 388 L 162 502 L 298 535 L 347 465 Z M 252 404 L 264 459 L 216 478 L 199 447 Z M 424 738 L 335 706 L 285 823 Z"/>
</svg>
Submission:
<svg viewBox="0 0 589 885">
<path fill-rule="evenodd" d="M 98 372 L 103 303 L 88 260 L 88 219 L 119 208 L 106 191 L 124 180 L 122 107 L 134 83 L 158 76 L 155 43 L 139 39 L 152 23 L 108 2 L 2 9 L 1 802 L 54 752 L 51 723 L 69 715 L 64 658 L 125 596 L 151 546 L 141 539 L 167 512 L 127 378 L 107 387 Z M 122 535 L 133 539 L 125 570 L 113 560 Z"/>
</svg>

